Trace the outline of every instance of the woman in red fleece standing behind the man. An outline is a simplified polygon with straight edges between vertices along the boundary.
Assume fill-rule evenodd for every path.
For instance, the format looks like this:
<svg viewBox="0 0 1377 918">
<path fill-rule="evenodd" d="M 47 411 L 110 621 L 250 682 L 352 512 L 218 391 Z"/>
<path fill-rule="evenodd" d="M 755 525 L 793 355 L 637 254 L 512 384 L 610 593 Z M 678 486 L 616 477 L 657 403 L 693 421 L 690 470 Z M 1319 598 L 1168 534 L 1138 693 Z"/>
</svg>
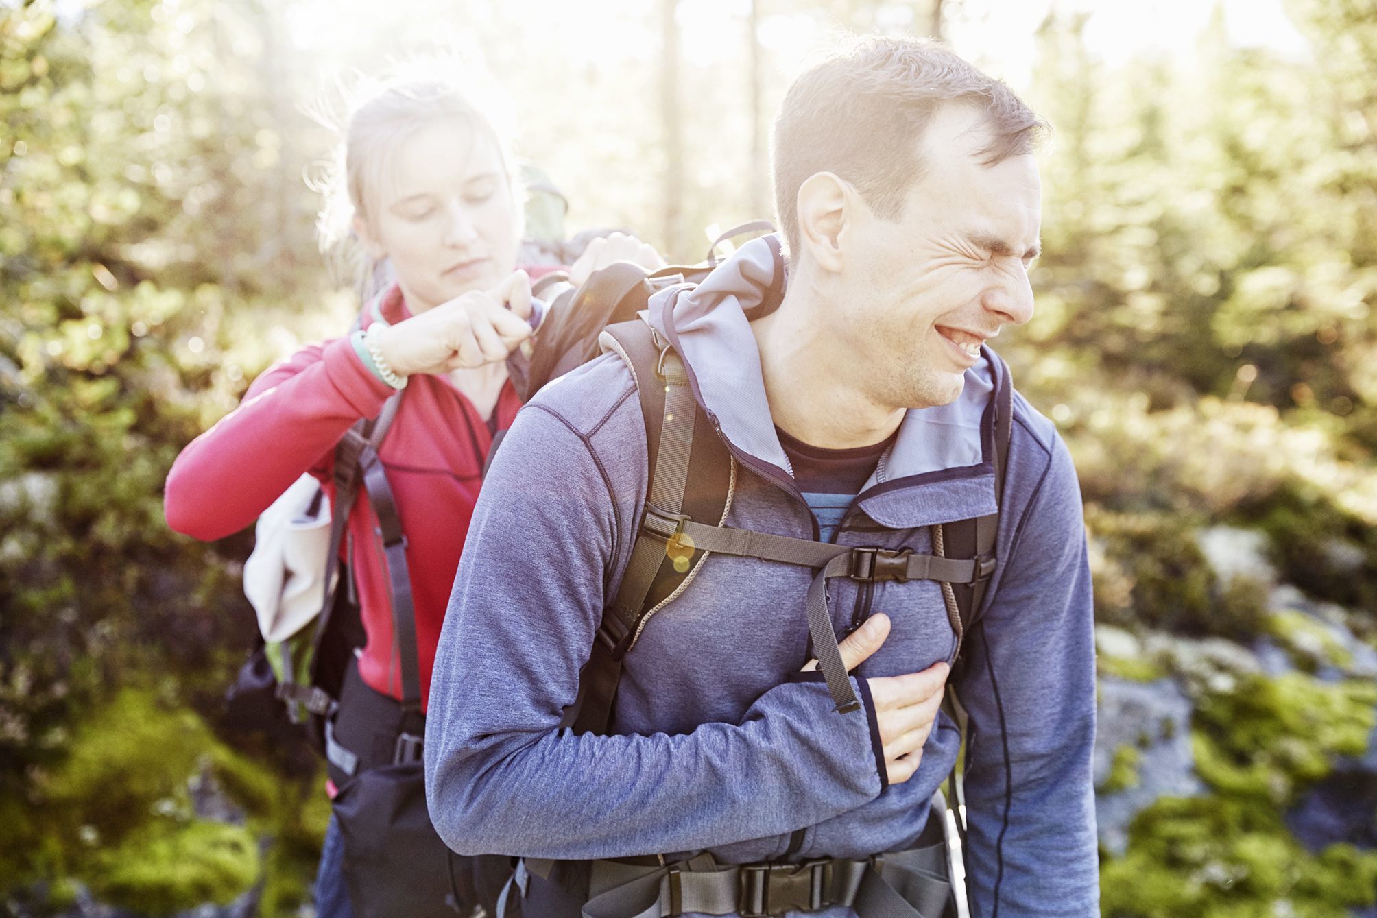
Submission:
<svg viewBox="0 0 1377 918">
<path fill-rule="evenodd" d="M 165 512 L 172 529 L 216 540 L 252 523 L 303 472 L 333 500 L 335 445 L 405 388 L 380 458 L 406 535 L 424 712 L 483 461 L 521 407 L 505 361 L 534 323 L 530 281 L 516 270 L 522 194 L 494 120 L 448 80 L 394 80 L 370 92 L 347 121 L 337 179 L 325 213 L 347 215 L 366 253 L 364 277 L 386 259 L 395 284 L 366 304 L 359 330 L 270 367 L 238 409 L 190 443 L 168 475 Z M 330 241 L 325 220 L 322 228 Z M 570 279 L 616 260 L 662 264 L 650 246 L 618 235 L 591 246 Z M 350 679 L 355 695 L 362 683 L 377 698 L 402 696 L 375 527 L 368 501 L 355 501 L 347 531 L 366 643 L 346 699 Z M 358 717 L 358 706 L 341 703 L 336 735 L 366 732 L 348 723 Z M 361 764 L 387 762 L 365 750 Z M 321 918 L 351 914 L 340 857 L 332 819 Z"/>
</svg>

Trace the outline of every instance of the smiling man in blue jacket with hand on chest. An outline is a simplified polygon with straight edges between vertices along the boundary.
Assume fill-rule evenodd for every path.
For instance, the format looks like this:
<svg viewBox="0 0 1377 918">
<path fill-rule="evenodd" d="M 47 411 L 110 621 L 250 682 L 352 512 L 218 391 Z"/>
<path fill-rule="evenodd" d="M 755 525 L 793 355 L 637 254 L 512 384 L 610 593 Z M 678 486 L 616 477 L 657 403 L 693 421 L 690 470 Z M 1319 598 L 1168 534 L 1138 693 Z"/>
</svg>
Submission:
<svg viewBox="0 0 1377 918">
<path fill-rule="evenodd" d="M 1041 129 L 1002 84 L 917 41 L 869 40 L 795 81 L 774 153 L 784 303 L 755 308 L 771 273 L 753 242 L 651 310 L 734 457 L 726 524 L 940 553 L 936 524 L 994 511 L 989 409 L 1008 376 L 980 345 L 1033 312 Z M 427 786 L 452 846 L 635 859 L 584 873 L 536 862 L 530 918 L 577 914 L 606 889 L 589 914 L 778 914 L 786 871 L 764 907 L 722 884 L 677 896 L 698 889 L 695 871 L 822 859 L 843 859 L 804 873 L 825 895 L 790 893 L 788 908 L 942 914 L 950 901 L 913 907 L 931 871 L 888 868 L 902 855 L 881 877 L 906 904 L 862 903 L 876 884 L 858 897 L 834 881 L 940 833 L 931 801 L 960 734 L 938 703 L 960 644 L 971 914 L 1099 914 L 1091 577 L 1075 472 L 1045 418 L 1015 398 L 998 568 L 960 641 L 938 582 L 833 579 L 836 632 L 865 621 L 841 643 L 841 688 L 859 705 L 839 705 L 797 673 L 818 645 L 814 571 L 711 555 L 644 619 L 613 735 L 559 729 L 646 493 L 646 428 L 616 355 L 548 387 L 512 427 L 435 665 Z M 686 863 L 701 852 L 711 860 Z M 753 870 L 730 875 L 746 889 Z M 628 875 L 649 904 L 628 906 Z"/>
</svg>

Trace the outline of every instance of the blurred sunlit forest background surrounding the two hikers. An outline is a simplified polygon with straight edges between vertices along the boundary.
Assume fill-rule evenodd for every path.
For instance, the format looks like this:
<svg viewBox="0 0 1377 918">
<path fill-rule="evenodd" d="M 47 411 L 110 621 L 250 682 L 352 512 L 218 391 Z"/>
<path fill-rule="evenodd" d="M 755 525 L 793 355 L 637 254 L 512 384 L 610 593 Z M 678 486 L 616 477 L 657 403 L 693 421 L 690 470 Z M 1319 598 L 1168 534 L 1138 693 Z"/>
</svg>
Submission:
<svg viewBox="0 0 1377 918">
<path fill-rule="evenodd" d="M 322 776 L 220 716 L 252 534 L 161 505 L 355 308 L 304 107 L 481 50 L 570 231 L 697 260 L 770 216 L 768 118 L 845 28 L 943 33 L 1055 127 L 1037 317 L 1000 341 L 1085 494 L 1104 915 L 1377 915 L 1373 0 L 1281 0 L 1260 43 L 1275 4 L 390 6 L 0 0 L 0 914 L 311 914 Z M 1170 41 L 1096 37 L 1129 7 Z"/>
</svg>

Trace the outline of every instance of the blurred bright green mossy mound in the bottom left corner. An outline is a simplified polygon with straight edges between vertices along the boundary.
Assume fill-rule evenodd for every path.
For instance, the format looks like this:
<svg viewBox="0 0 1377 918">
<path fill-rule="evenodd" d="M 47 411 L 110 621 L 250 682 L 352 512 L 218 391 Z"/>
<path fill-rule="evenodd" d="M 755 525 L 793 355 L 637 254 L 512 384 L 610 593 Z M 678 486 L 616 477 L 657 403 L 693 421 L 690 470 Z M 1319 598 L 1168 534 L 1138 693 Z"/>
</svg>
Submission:
<svg viewBox="0 0 1377 918">
<path fill-rule="evenodd" d="M 29 849 L 14 875 L 47 879 L 45 907 L 74 884 L 140 915 L 230 903 L 256 885 L 263 915 L 308 901 L 329 812 L 319 783 L 248 760 L 156 691 L 128 688 L 91 712 L 34 787 L 29 809 L 44 818 L 8 824 Z"/>
</svg>

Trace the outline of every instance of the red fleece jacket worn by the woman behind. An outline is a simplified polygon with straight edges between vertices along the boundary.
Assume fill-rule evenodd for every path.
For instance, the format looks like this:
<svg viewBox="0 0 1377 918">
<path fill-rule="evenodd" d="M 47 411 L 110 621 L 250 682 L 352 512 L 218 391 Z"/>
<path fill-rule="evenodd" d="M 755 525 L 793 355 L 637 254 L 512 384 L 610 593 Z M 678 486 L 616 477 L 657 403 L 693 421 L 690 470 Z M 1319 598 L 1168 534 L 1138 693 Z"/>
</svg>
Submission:
<svg viewBox="0 0 1377 918">
<path fill-rule="evenodd" d="M 394 323 L 409 315 L 397 288 L 381 310 Z M 335 445 L 355 421 L 376 417 L 391 392 L 347 337 L 302 348 L 259 376 L 234 412 L 182 450 L 167 480 L 168 524 L 194 538 L 223 538 L 253 523 L 303 472 L 318 478 L 333 501 Z M 507 429 L 519 407 L 511 383 L 505 384 L 494 409 L 497 429 Z M 423 707 L 490 445 L 486 420 L 449 378 L 417 374 L 380 451 L 408 540 Z M 348 519 L 368 634 L 359 674 L 375 690 L 401 698 L 387 567 L 373 527 L 373 511 L 361 491 Z"/>
</svg>

